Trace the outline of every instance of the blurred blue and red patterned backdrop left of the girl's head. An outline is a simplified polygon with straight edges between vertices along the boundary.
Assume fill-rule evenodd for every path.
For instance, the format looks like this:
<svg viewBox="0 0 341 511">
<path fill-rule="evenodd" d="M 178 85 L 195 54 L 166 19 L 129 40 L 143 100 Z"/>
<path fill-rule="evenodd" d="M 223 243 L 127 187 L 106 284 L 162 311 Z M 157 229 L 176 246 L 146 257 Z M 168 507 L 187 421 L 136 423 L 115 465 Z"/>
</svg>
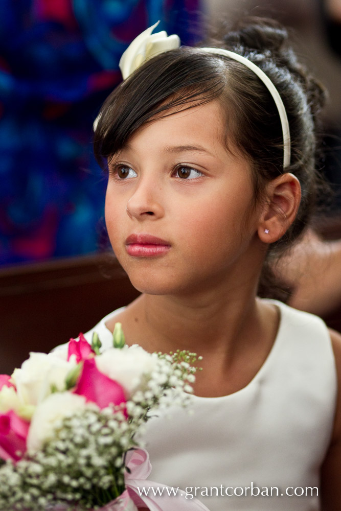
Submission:
<svg viewBox="0 0 341 511">
<path fill-rule="evenodd" d="M 161 30 L 193 44 L 201 4 L 0 2 L 0 265 L 106 248 L 94 119 L 131 40 L 160 19 Z"/>
</svg>

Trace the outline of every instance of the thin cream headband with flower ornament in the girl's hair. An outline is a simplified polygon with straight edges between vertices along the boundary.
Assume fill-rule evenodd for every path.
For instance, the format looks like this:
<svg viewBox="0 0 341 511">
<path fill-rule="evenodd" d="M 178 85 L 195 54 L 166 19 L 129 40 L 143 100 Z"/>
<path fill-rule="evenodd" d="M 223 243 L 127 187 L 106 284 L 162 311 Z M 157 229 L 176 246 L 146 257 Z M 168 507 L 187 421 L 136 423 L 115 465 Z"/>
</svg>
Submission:
<svg viewBox="0 0 341 511">
<path fill-rule="evenodd" d="M 123 53 L 120 59 L 120 69 L 122 77 L 125 80 L 131 75 L 135 69 L 140 67 L 146 60 L 158 55 L 160 53 L 167 52 L 179 48 L 180 39 L 177 35 L 173 34 L 167 36 L 167 32 L 157 32 L 152 34 L 154 28 L 159 24 L 159 21 L 152 27 L 142 32 L 136 37 L 128 46 L 126 51 Z M 200 48 L 199 50 L 214 53 L 216 55 L 223 55 L 230 57 L 233 60 L 244 64 L 246 67 L 251 69 L 264 83 L 272 98 L 276 103 L 278 113 L 282 124 L 283 133 L 283 167 L 286 168 L 290 165 L 290 130 L 287 114 L 283 101 L 275 85 L 266 76 L 266 74 L 256 64 L 248 60 L 246 57 L 242 57 L 238 53 L 230 52 L 229 50 L 222 50 L 220 48 Z M 94 130 L 96 130 L 99 117 L 95 120 Z"/>
</svg>

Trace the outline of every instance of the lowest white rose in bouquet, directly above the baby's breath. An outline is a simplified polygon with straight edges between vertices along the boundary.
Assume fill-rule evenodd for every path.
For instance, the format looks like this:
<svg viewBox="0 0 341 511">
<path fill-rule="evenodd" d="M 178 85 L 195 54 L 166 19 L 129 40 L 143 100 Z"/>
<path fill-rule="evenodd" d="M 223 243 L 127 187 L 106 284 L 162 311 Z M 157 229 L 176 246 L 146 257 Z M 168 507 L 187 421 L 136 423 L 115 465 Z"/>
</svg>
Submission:
<svg viewBox="0 0 341 511">
<path fill-rule="evenodd" d="M 51 394 L 35 409 L 27 437 L 28 450 L 35 452 L 46 440 L 53 438 L 58 422 L 64 417 L 90 407 L 99 409 L 94 403 L 87 404 L 84 396 L 78 396 L 72 392 Z"/>
</svg>

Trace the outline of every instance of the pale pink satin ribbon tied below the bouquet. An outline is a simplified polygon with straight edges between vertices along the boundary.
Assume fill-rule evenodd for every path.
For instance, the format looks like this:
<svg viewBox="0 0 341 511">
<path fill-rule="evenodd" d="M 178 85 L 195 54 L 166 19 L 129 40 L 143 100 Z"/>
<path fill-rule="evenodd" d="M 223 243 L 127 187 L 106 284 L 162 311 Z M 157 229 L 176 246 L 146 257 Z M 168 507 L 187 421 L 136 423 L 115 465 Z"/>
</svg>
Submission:
<svg viewBox="0 0 341 511">
<path fill-rule="evenodd" d="M 126 457 L 129 472 L 125 475 L 125 485 L 131 500 L 137 507 L 148 507 L 150 511 L 209 511 L 198 499 L 186 498 L 186 492 L 180 488 L 166 486 L 147 477 L 151 472 L 149 455 L 144 449 L 128 451 Z M 148 495 L 144 490 L 148 492 Z M 153 491 L 154 490 L 154 491 Z M 168 491 L 167 491 L 168 490 Z M 156 495 L 155 495 L 156 494 Z"/>
</svg>

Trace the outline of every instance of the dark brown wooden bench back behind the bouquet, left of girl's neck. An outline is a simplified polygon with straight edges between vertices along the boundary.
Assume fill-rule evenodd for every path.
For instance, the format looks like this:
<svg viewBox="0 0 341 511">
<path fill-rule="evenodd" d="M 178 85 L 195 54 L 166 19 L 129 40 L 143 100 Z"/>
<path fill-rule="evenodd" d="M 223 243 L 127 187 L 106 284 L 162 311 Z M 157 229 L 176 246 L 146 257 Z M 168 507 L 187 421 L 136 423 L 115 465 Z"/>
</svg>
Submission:
<svg viewBox="0 0 341 511">
<path fill-rule="evenodd" d="M 86 332 L 139 293 L 110 255 L 0 270 L 0 373 L 11 374 L 30 351 Z"/>
</svg>

